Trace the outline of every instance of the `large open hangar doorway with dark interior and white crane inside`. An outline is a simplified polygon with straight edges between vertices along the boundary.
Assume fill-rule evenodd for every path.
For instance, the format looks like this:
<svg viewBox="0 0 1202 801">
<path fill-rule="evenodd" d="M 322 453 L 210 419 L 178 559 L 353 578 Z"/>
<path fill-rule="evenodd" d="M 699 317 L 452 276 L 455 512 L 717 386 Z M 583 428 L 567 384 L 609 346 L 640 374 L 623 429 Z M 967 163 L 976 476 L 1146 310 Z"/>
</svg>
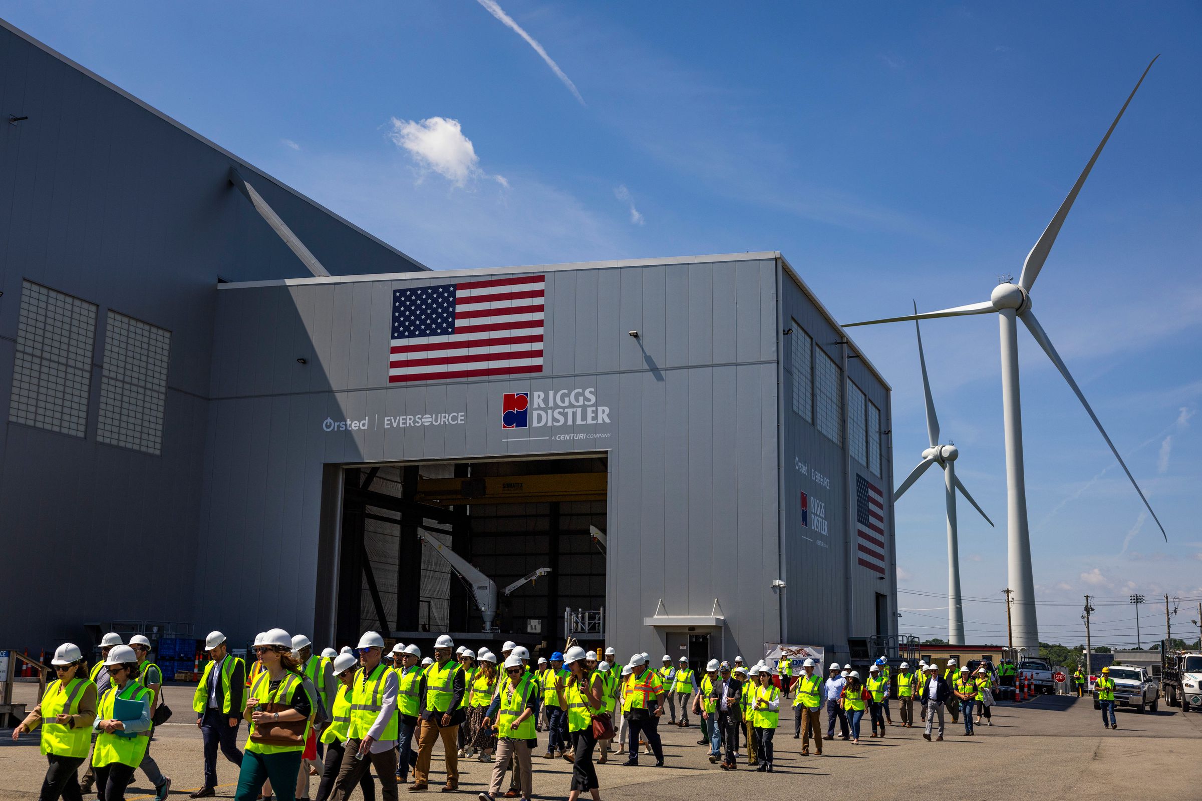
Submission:
<svg viewBox="0 0 1202 801">
<path fill-rule="evenodd" d="M 555 647 L 565 608 L 606 605 L 606 555 L 590 531 L 606 531 L 607 478 L 605 454 L 344 468 L 335 639 L 353 644 L 376 629 L 423 642 L 447 632 Z M 494 633 L 419 532 L 496 585 Z M 505 594 L 540 568 L 551 572 Z"/>
</svg>

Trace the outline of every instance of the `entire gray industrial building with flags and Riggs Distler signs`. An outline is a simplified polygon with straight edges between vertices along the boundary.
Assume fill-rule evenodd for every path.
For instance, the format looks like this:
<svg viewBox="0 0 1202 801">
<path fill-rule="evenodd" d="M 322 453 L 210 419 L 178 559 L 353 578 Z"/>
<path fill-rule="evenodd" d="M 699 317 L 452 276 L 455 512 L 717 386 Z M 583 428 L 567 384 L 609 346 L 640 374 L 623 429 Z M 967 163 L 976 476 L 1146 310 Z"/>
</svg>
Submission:
<svg viewBox="0 0 1202 801">
<path fill-rule="evenodd" d="M 432 271 L 8 25 L 0 114 L 0 647 L 895 636 L 889 388 L 779 252 Z"/>
</svg>

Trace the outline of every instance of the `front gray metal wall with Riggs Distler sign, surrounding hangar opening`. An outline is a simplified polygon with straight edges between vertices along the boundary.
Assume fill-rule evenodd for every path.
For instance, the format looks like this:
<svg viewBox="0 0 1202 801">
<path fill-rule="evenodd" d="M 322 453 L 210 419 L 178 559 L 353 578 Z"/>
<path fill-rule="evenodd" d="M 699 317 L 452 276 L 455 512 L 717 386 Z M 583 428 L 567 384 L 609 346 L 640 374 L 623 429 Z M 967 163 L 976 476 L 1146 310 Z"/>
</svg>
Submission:
<svg viewBox="0 0 1202 801">
<path fill-rule="evenodd" d="M 500 271 L 546 275 L 545 372 L 444 384 L 388 384 L 392 292 L 496 270 L 224 286 L 197 608 L 239 638 L 314 626 L 323 464 L 607 450 L 609 642 L 662 653 L 642 626 L 659 599 L 708 615 L 716 597 L 715 651 L 758 652 L 779 635 L 778 267 L 730 259 Z M 607 436 L 505 441 L 504 393 L 575 388 L 594 388 L 611 423 L 554 432 Z M 383 428 L 444 412 L 464 424 Z M 327 418 L 368 429 L 327 432 Z"/>
</svg>

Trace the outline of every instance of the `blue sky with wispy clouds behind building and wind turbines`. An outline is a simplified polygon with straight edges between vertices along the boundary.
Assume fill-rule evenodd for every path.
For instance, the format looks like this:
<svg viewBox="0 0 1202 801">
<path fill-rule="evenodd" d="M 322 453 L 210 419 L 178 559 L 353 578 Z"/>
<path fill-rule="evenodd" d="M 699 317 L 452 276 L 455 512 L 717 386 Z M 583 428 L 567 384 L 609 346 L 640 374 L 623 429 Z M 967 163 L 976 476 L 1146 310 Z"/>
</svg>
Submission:
<svg viewBox="0 0 1202 801">
<path fill-rule="evenodd" d="M 1108 644 L 1135 640 L 1129 593 L 1148 597 L 1146 642 L 1164 633 L 1150 602 L 1202 596 L 1196 4 L 498 2 L 0 16 L 434 268 L 780 250 L 847 322 L 1017 276 L 1161 53 L 1034 307 L 1170 542 L 1020 331 L 1041 639 L 1083 640 L 1085 592 Z M 996 599 L 966 602 L 969 639 L 1004 641 L 996 322 L 923 331 L 958 473 L 999 524 L 960 504 L 964 594 Z M 912 329 L 852 333 L 894 388 L 900 480 L 926 447 Z M 942 515 L 933 474 L 899 502 L 904 590 L 946 590 Z M 946 599 L 900 606 L 904 633 L 946 635 Z M 1197 616 L 1182 608 L 1177 633 Z"/>
</svg>

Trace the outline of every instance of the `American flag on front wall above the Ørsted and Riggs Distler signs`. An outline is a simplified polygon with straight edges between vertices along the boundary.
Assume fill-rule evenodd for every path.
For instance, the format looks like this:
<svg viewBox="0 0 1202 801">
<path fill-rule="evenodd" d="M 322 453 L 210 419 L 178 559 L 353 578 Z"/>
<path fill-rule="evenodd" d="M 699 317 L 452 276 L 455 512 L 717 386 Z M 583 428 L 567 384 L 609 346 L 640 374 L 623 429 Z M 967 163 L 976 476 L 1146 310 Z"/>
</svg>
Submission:
<svg viewBox="0 0 1202 801">
<path fill-rule="evenodd" d="M 542 372 L 545 277 L 393 291 L 388 381 Z"/>
</svg>

